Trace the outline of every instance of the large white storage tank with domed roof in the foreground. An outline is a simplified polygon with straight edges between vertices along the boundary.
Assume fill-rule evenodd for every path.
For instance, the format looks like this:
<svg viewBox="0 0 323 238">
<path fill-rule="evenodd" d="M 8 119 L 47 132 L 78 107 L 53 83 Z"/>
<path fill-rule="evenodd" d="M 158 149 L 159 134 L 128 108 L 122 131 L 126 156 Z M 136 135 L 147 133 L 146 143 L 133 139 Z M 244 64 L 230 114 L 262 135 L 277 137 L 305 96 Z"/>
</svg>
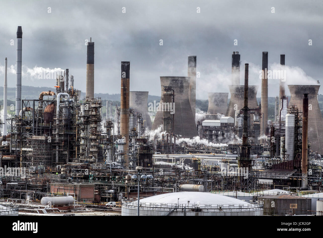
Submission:
<svg viewBox="0 0 323 238">
<path fill-rule="evenodd" d="M 122 216 L 137 216 L 137 201 L 122 204 Z M 139 201 L 140 216 L 261 216 L 262 202 L 204 192 L 165 193 Z"/>
</svg>

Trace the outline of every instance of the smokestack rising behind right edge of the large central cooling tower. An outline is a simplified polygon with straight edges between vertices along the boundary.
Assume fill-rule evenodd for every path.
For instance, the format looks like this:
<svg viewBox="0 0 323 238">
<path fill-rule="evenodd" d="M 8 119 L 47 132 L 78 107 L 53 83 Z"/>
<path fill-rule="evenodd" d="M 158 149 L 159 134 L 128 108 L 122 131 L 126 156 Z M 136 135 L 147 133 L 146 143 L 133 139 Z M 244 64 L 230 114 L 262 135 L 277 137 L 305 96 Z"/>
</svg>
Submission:
<svg viewBox="0 0 323 238">
<path fill-rule="evenodd" d="M 193 117 L 195 120 L 196 106 L 196 55 L 188 56 L 187 76 L 190 78 L 190 87 L 188 91 L 188 99 L 190 100 Z"/>
</svg>

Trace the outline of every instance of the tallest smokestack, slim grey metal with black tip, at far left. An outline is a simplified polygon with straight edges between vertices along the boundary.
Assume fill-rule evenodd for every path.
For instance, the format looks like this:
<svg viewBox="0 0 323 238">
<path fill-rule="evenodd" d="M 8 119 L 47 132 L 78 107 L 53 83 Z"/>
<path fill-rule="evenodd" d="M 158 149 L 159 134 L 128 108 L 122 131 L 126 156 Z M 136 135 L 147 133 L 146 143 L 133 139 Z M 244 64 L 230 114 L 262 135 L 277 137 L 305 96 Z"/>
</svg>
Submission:
<svg viewBox="0 0 323 238">
<path fill-rule="evenodd" d="M 22 28 L 17 28 L 16 115 L 21 110 Z"/>
</svg>

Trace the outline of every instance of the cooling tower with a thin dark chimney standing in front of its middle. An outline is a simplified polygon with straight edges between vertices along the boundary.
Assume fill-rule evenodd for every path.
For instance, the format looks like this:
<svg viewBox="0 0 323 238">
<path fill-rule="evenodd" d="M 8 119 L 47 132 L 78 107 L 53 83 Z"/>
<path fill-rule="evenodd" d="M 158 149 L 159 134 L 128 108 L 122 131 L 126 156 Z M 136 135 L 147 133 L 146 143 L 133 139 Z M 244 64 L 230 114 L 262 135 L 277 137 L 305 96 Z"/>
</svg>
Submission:
<svg viewBox="0 0 323 238">
<path fill-rule="evenodd" d="M 244 85 L 229 85 L 231 99 L 229 107 L 226 111 L 227 117 L 235 118 L 235 110 L 241 110 L 244 107 L 245 100 L 245 86 Z M 257 103 L 258 85 L 248 86 L 248 108 L 258 107 Z"/>
</svg>

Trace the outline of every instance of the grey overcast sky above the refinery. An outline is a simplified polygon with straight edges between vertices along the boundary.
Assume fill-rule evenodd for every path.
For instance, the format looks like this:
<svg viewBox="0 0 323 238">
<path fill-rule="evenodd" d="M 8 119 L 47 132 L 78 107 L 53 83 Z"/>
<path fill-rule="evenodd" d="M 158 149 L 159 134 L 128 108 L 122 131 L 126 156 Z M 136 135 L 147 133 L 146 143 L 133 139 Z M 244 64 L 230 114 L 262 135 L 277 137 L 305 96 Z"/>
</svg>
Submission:
<svg viewBox="0 0 323 238">
<path fill-rule="evenodd" d="M 241 83 L 249 63 L 249 84 L 261 84 L 262 51 L 268 51 L 269 70 L 278 69 L 279 55 L 286 54 L 287 84 L 323 83 L 322 2 L 2 1 L 0 82 L 7 57 L 8 86 L 16 85 L 16 44 L 10 43 L 16 43 L 17 26 L 22 26 L 22 85 L 52 88 L 55 80 L 38 79 L 37 72 L 68 68 L 74 86 L 85 91 L 85 40 L 90 37 L 95 93 L 120 93 L 120 62 L 130 61 L 130 90 L 160 96 L 159 77 L 187 76 L 187 56 L 197 55 L 196 97 L 207 99 L 207 92 L 228 92 L 232 51 L 241 54 Z M 278 82 L 269 80 L 269 96 L 278 94 Z"/>
</svg>

